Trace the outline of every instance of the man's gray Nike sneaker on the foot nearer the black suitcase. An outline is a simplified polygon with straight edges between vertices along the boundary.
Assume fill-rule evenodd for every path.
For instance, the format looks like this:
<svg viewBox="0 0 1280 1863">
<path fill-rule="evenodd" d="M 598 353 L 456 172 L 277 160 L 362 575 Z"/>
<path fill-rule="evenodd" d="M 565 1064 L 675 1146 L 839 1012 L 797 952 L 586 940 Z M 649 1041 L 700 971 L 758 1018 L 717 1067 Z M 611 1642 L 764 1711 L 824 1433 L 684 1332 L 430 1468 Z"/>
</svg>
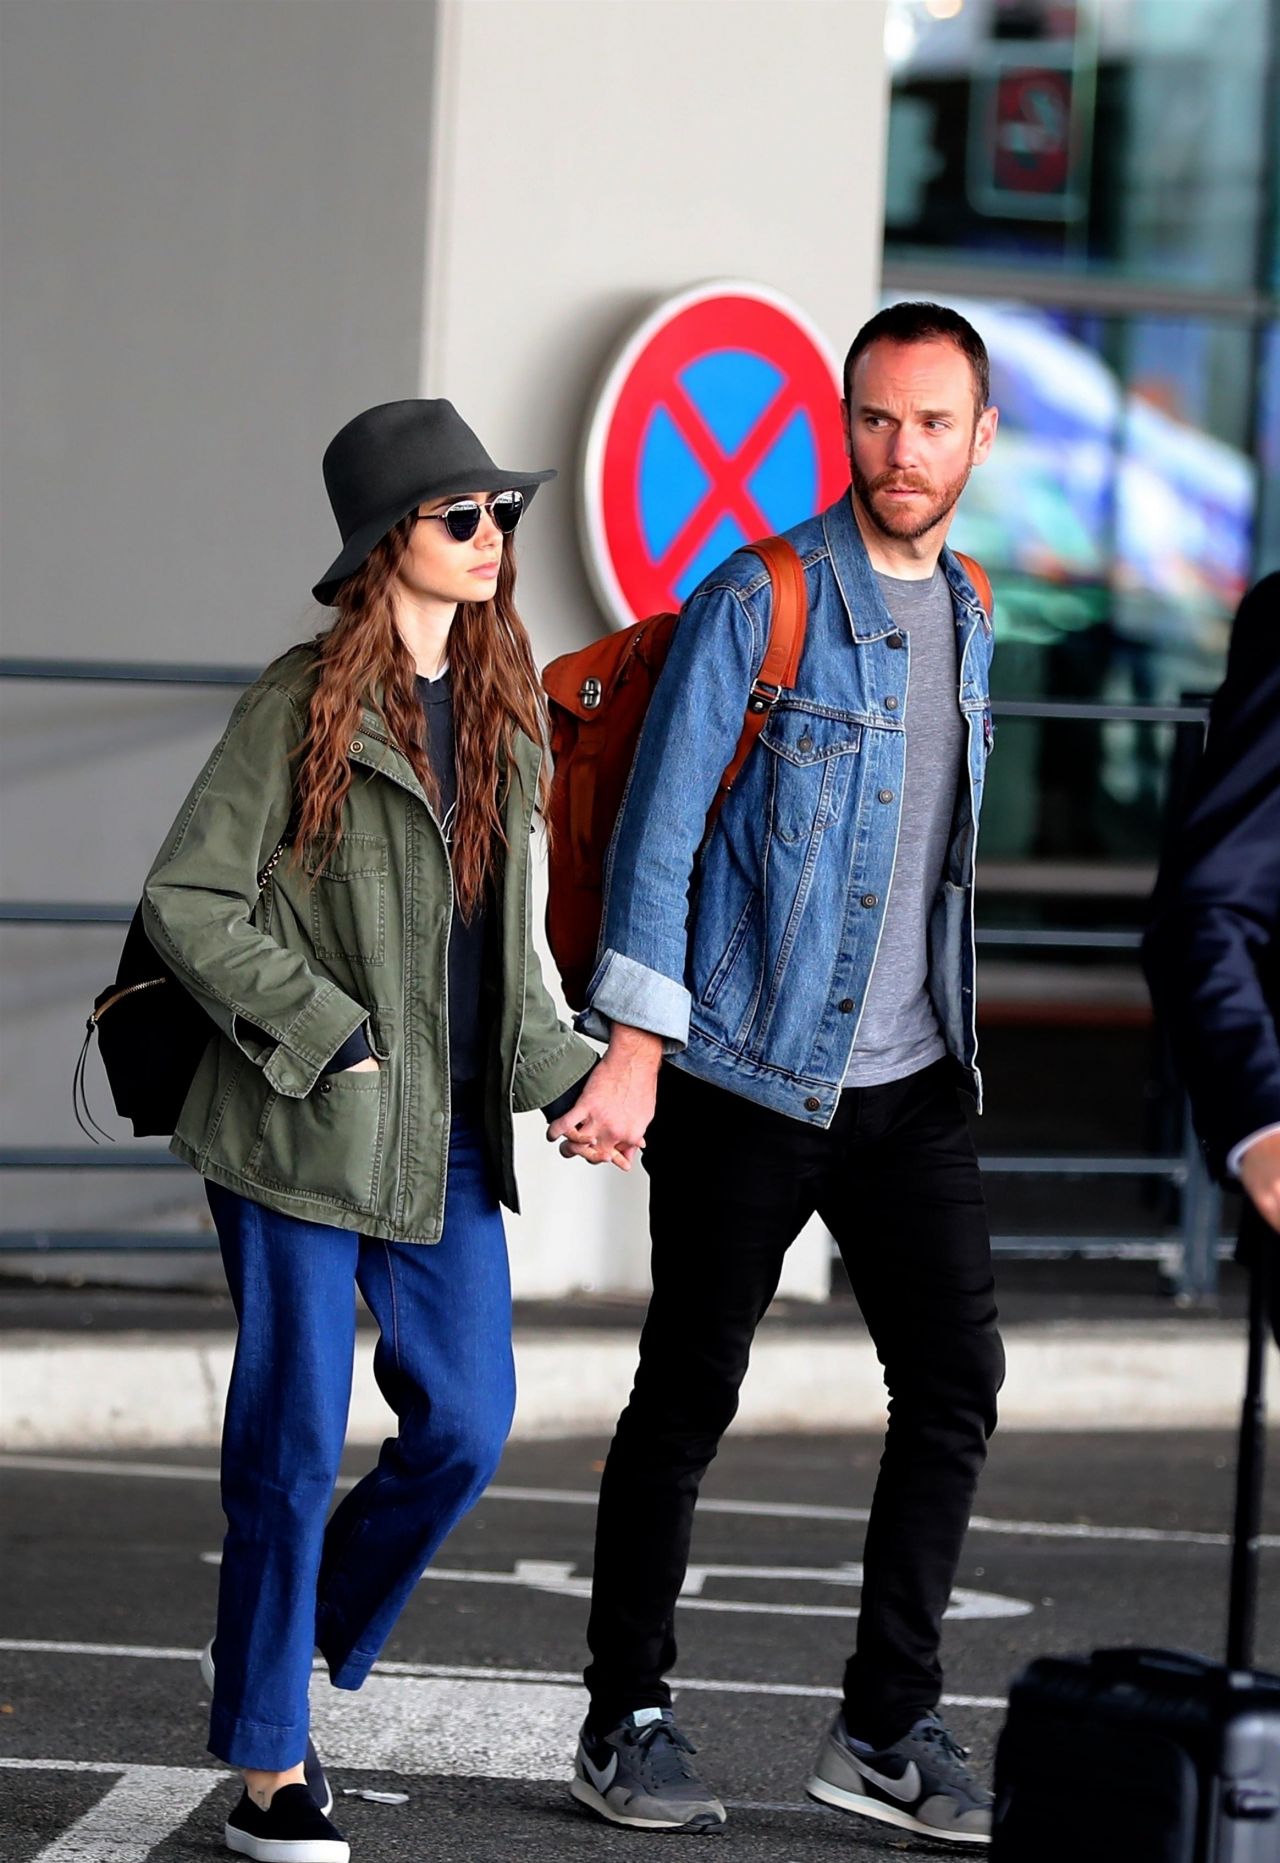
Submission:
<svg viewBox="0 0 1280 1863">
<path fill-rule="evenodd" d="M 805 1790 L 824 1805 L 859 1811 L 922 1837 L 989 1844 L 993 1798 L 967 1759 L 967 1747 L 952 1740 L 937 1714 L 926 1714 L 879 1753 L 851 1746 L 844 1714 L 837 1714 Z"/>
</svg>

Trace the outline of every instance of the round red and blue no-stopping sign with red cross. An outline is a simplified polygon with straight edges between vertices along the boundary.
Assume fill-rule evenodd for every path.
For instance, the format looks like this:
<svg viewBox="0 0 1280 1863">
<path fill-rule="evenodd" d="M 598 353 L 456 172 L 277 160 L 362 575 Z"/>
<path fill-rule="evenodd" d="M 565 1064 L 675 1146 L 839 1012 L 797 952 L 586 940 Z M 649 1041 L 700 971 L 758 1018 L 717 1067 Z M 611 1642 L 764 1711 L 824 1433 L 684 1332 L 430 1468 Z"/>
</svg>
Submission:
<svg viewBox="0 0 1280 1863">
<path fill-rule="evenodd" d="M 585 540 L 615 624 L 678 607 L 742 544 L 840 496 L 838 378 L 784 298 L 702 287 L 650 315 L 600 393 Z"/>
</svg>

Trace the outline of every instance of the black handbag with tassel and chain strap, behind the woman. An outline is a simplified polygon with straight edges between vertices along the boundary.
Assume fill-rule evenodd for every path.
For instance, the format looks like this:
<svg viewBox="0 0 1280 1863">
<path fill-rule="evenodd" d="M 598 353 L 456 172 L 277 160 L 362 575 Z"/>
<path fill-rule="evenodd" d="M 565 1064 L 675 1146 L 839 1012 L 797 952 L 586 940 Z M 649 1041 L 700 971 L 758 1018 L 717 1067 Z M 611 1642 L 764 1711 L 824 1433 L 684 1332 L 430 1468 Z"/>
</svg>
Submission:
<svg viewBox="0 0 1280 1863">
<path fill-rule="evenodd" d="M 257 876 L 259 892 L 294 833 L 296 822 L 291 816 L 279 846 Z M 84 1082 L 95 1030 L 116 1110 L 132 1123 L 134 1138 L 168 1136 L 177 1125 L 201 1054 L 218 1028 L 147 937 L 142 904 L 129 922 L 116 982 L 93 999 L 93 1013 L 84 1028 L 71 1105 L 86 1138 L 93 1144 L 99 1142 L 97 1133 L 112 1138 L 89 1112 Z"/>
</svg>

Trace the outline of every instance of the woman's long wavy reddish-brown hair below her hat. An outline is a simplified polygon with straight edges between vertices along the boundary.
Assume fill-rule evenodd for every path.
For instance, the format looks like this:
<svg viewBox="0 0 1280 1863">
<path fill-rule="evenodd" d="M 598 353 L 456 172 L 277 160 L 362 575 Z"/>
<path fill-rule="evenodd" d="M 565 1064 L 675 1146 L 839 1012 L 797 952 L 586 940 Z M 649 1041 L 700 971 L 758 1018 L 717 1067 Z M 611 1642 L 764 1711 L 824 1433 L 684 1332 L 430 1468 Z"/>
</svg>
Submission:
<svg viewBox="0 0 1280 1863">
<path fill-rule="evenodd" d="M 397 632 L 391 598 L 412 529 L 414 518 L 408 516 L 347 578 L 335 598 L 337 620 L 317 637 L 320 678 L 311 693 L 294 779 L 294 855 L 313 872 L 324 868 L 343 835 L 343 803 L 352 784 L 347 751 L 361 706 L 369 704 L 378 714 L 388 740 L 412 764 L 432 809 L 440 805 L 440 788 L 427 760 L 423 708 L 414 687 L 414 658 Z M 516 613 L 514 589 L 516 563 L 507 538 L 497 589 L 488 602 L 460 602 L 449 630 L 458 773 L 451 861 L 464 918 L 484 898 L 507 846 L 501 797 L 514 771 L 516 732 L 525 732 L 535 743 L 548 741 L 546 699 L 529 635 Z M 544 822 L 550 786 L 544 762 L 537 796 Z"/>
</svg>

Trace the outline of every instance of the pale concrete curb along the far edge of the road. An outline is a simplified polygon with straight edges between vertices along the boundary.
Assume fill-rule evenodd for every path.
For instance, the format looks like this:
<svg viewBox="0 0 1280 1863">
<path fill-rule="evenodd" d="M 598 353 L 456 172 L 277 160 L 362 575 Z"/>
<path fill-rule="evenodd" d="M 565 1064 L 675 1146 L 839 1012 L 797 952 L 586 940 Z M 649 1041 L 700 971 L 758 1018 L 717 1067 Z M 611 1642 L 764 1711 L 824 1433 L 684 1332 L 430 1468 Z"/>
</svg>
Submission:
<svg viewBox="0 0 1280 1863">
<path fill-rule="evenodd" d="M 1235 1425 L 1245 1341 L 1233 1325 L 1010 1326 L 1004 1429 L 1222 1429 Z M 123 1332 L 110 1339 L 9 1334 L 0 1448 L 209 1448 L 222 1433 L 231 1334 Z M 635 1339 L 604 1328 L 516 1330 L 512 1438 L 607 1436 L 635 1371 Z M 348 1442 L 380 1442 L 389 1410 L 371 1351 L 356 1356 Z M 865 1332 L 788 1328 L 756 1338 L 742 1431 L 883 1429 L 885 1390 Z"/>
</svg>

